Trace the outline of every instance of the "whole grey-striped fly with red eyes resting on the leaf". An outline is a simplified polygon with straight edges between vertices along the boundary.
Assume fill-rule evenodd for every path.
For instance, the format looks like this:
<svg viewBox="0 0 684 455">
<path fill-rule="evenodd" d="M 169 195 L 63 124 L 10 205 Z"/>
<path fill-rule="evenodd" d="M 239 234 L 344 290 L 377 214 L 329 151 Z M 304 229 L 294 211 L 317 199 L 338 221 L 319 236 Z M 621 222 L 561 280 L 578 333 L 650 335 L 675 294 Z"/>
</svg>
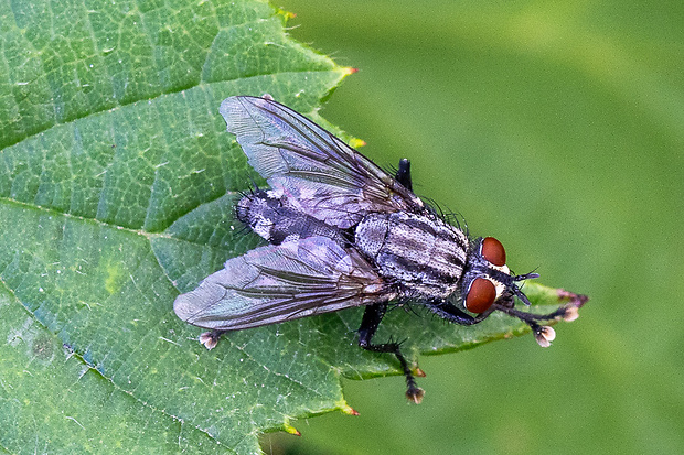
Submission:
<svg viewBox="0 0 684 455">
<path fill-rule="evenodd" d="M 469 238 L 426 205 L 412 191 L 408 160 L 392 176 L 270 96 L 231 97 L 220 112 L 270 185 L 235 208 L 268 245 L 227 260 L 175 300 L 181 319 L 210 329 L 200 337 L 207 348 L 226 332 L 365 306 L 359 345 L 394 354 L 406 397 L 419 403 L 424 391 L 399 344 L 373 343 L 389 302 L 419 303 L 459 325 L 500 311 L 525 322 L 544 347 L 555 337 L 544 323 L 577 317 L 575 304 L 544 315 L 516 310 L 515 297 L 530 305 L 520 283 L 539 275 L 512 273 L 499 240 Z"/>
</svg>

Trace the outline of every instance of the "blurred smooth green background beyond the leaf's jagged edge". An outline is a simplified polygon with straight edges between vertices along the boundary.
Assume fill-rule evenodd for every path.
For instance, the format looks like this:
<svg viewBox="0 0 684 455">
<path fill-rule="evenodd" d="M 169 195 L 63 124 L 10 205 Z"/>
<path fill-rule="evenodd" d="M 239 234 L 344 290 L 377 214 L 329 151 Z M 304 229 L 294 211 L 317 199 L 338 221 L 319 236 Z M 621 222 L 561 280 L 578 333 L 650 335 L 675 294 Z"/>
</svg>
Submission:
<svg viewBox="0 0 684 455">
<path fill-rule="evenodd" d="M 549 349 L 423 356 L 421 405 L 400 377 L 345 380 L 361 415 L 264 449 L 684 453 L 683 3 L 276 4 L 293 37 L 360 68 L 327 119 L 382 165 L 410 158 L 416 192 L 496 236 L 514 270 L 591 300 Z"/>
</svg>

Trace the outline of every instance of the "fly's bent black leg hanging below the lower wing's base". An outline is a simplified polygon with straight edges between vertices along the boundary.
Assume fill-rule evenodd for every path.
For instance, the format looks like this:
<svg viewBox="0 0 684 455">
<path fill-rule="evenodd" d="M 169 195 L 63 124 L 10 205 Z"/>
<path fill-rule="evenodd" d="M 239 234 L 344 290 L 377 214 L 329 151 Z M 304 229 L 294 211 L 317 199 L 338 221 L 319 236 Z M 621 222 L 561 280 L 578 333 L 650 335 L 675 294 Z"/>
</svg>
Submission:
<svg viewBox="0 0 684 455">
<path fill-rule="evenodd" d="M 404 376 L 406 377 L 406 398 L 418 404 L 423 401 L 425 391 L 416 384 L 416 379 L 414 378 L 410 368 L 408 368 L 408 362 L 399 350 L 399 344 L 391 342 L 375 345 L 371 342 L 386 311 L 386 303 L 376 303 L 366 306 L 365 312 L 363 313 L 363 318 L 361 319 L 361 327 L 359 327 L 359 346 L 374 353 L 394 354 L 397 360 L 399 360 L 402 370 L 404 370 Z"/>
</svg>

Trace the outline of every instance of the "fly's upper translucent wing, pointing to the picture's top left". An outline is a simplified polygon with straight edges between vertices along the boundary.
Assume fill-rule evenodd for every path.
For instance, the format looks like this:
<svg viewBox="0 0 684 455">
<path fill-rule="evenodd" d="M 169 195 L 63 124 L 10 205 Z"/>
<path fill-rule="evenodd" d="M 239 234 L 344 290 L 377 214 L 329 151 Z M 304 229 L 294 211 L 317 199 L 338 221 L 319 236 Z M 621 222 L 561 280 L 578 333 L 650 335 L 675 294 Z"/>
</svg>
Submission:
<svg viewBox="0 0 684 455">
<path fill-rule="evenodd" d="M 231 97 L 220 112 L 249 164 L 314 218 L 346 229 L 368 213 L 424 209 L 420 198 L 371 160 L 278 102 Z"/>
</svg>

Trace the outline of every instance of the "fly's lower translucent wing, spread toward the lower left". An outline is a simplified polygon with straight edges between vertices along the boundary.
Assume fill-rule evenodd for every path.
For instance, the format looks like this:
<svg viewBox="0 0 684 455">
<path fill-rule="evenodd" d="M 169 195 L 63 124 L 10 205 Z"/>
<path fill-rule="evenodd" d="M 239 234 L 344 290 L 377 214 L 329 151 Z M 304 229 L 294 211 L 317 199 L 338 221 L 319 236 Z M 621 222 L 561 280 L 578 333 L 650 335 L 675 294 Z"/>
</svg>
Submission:
<svg viewBox="0 0 684 455">
<path fill-rule="evenodd" d="M 394 299 L 355 251 L 325 237 L 254 249 L 226 261 L 173 310 L 204 328 L 237 331 Z"/>
</svg>

